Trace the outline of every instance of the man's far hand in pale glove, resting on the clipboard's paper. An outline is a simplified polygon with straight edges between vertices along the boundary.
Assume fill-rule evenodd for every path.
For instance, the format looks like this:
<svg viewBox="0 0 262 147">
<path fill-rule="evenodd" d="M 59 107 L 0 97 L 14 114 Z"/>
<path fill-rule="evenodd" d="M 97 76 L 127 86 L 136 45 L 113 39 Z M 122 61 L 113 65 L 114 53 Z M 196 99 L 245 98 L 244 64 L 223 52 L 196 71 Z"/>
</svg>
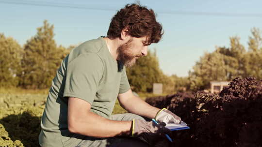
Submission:
<svg viewBox="0 0 262 147">
<path fill-rule="evenodd" d="M 181 118 L 167 110 L 166 108 L 161 109 L 157 114 L 155 119 L 158 122 L 168 123 L 176 123 L 179 124 L 181 122 Z"/>
</svg>

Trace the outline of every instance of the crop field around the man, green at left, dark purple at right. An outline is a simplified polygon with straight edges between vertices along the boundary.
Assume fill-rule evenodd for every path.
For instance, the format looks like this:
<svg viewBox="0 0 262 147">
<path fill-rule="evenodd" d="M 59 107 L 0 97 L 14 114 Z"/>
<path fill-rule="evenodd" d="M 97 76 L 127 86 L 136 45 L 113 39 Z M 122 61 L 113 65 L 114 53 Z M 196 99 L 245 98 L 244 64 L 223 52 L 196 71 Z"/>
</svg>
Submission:
<svg viewBox="0 0 262 147">
<path fill-rule="evenodd" d="M 37 147 L 47 90 L 0 93 L 0 147 Z M 155 140 L 156 147 L 262 147 L 262 81 L 255 78 L 236 78 L 215 94 L 138 94 L 153 106 L 168 108 L 191 128 L 173 132 L 173 144 Z M 116 102 L 113 114 L 125 112 Z"/>
</svg>

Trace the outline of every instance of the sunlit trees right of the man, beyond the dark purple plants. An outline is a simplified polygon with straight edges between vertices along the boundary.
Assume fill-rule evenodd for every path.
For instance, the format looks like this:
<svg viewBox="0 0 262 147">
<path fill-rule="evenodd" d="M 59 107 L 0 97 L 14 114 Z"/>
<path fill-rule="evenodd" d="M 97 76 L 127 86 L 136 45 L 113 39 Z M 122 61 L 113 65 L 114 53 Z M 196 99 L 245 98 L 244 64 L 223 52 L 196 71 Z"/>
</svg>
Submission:
<svg viewBox="0 0 262 147">
<path fill-rule="evenodd" d="M 258 28 L 251 29 L 246 49 L 240 38 L 230 37 L 230 46 L 218 46 L 215 51 L 206 52 L 195 63 L 187 77 L 176 74 L 165 75 L 159 68 L 156 54 L 138 59 L 128 69 L 130 82 L 135 90 L 150 91 L 152 83 L 163 83 L 165 93 L 197 91 L 210 88 L 211 81 L 231 81 L 235 77 L 255 77 L 262 80 L 262 37 Z"/>
</svg>

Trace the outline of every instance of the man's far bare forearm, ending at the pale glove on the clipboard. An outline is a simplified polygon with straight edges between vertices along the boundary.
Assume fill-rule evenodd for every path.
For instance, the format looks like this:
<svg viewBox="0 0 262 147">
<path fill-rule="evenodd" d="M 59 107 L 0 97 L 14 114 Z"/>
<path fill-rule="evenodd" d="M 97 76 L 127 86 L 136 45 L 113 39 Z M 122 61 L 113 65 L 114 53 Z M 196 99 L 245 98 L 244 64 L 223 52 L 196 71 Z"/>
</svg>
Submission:
<svg viewBox="0 0 262 147">
<path fill-rule="evenodd" d="M 134 96 L 131 89 L 118 95 L 120 105 L 128 112 L 147 118 L 155 118 L 159 108 L 153 107 L 139 97 Z"/>
</svg>

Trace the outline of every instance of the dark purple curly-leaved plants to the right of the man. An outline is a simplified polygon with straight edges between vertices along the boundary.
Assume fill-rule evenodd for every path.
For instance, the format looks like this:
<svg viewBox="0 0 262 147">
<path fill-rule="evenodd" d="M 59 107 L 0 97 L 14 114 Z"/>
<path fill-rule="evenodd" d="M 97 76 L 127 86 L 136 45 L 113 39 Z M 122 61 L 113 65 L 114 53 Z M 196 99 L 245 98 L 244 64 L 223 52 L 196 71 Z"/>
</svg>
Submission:
<svg viewBox="0 0 262 147">
<path fill-rule="evenodd" d="M 173 131 L 170 147 L 262 147 L 262 81 L 235 78 L 220 93 L 177 93 L 147 98 L 191 128 Z M 162 144 L 163 145 L 163 144 Z"/>
</svg>

